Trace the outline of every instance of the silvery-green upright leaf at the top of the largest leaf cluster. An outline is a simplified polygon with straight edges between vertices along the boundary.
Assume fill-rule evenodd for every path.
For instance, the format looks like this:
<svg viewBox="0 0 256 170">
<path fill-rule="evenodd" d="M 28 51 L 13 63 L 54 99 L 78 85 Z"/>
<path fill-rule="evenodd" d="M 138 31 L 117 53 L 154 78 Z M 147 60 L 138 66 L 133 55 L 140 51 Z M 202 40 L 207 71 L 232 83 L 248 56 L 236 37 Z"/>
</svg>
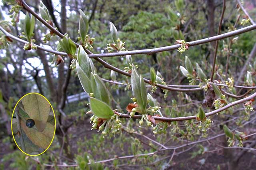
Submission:
<svg viewBox="0 0 256 170">
<path fill-rule="evenodd" d="M 77 60 L 82 71 L 84 71 L 86 76 L 90 79 L 90 75 L 92 72 L 91 65 L 90 65 L 90 58 L 88 54 L 84 51 L 84 48 L 82 47 L 82 45 L 79 45 L 78 47 Z"/>
</svg>

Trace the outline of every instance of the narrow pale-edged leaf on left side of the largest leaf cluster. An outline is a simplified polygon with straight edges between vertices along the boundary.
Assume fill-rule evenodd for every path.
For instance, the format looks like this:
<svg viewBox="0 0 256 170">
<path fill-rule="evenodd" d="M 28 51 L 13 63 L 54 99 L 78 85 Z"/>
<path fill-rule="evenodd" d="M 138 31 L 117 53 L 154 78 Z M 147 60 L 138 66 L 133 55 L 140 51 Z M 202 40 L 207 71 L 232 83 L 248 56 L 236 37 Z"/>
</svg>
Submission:
<svg viewBox="0 0 256 170">
<path fill-rule="evenodd" d="M 82 71 L 81 67 L 79 66 L 78 62 L 76 61 L 76 71 L 78 74 L 78 78 L 80 83 L 86 93 L 92 93 L 91 81 L 89 77 Z"/>
</svg>

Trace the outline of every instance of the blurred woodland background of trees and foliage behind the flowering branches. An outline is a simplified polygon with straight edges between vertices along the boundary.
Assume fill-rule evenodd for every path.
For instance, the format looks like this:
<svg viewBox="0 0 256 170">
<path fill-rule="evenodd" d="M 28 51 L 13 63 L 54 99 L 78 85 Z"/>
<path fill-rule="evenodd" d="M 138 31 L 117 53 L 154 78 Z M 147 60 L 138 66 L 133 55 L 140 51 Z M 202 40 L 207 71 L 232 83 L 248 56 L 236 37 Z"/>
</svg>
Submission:
<svg viewBox="0 0 256 170">
<path fill-rule="evenodd" d="M 90 37 L 94 37 L 93 53 L 107 53 L 107 44 L 112 42 L 108 22 L 113 22 L 119 31 L 119 38 L 126 42 L 126 49 L 146 49 L 162 47 L 184 39 L 186 42 L 215 36 L 222 11 L 222 0 L 184 0 L 177 6 L 173 0 L 42 0 L 49 10 L 54 25 L 60 32 L 68 33 L 72 40 L 78 37 L 78 22 L 81 9 L 89 20 Z M 26 3 L 37 13 L 39 0 L 26 0 Z M 236 0 L 226 1 L 226 11 L 221 27 L 221 34 L 233 30 L 238 16 L 236 29 L 249 26 L 250 22 L 241 25 L 247 19 L 243 12 L 236 8 Z M 244 0 L 244 8 L 255 19 L 256 1 Z M 178 7 L 178 8 L 177 8 Z M 2 2 L 1 20 L 8 17 L 10 6 Z M 177 14 L 175 20 L 172 12 Z M 12 34 L 21 35 L 26 14 L 20 11 L 20 22 L 11 27 Z M 36 44 L 43 44 L 42 38 L 49 30 L 36 21 Z M 234 38 L 234 37 L 233 37 Z M 234 84 L 244 85 L 246 72 L 251 71 L 255 82 L 256 70 L 256 32 L 246 32 L 238 36 L 230 50 L 228 77 Z M 217 53 L 218 73 L 225 75 L 228 45 L 232 38 L 219 41 Z M 46 48 L 56 50 L 58 37 L 44 44 Z M 186 135 L 191 121 L 178 122 L 167 128 L 167 134 L 155 135 L 146 126 L 138 127 L 138 120 L 121 119 L 123 128 L 113 138 L 102 138 L 100 132 L 90 130 L 88 96 L 84 93 L 76 71 L 71 71 L 71 59 L 64 58 L 64 63 L 57 67 L 52 60 L 54 55 L 37 50 L 24 51 L 22 43 L 12 42 L 0 51 L 0 169 L 80 169 L 89 160 L 92 169 L 243 169 L 256 167 L 256 152 L 240 148 L 226 148 L 226 136 L 223 125 L 230 129 L 238 127 L 241 132 L 251 134 L 256 131 L 256 113 L 245 119 L 243 105 L 230 108 L 212 118 L 212 127 L 208 137 Z M 133 55 L 132 59 L 145 78 L 150 78 L 149 69 L 154 67 L 160 71 L 167 84 L 188 85 L 182 75 L 180 65 L 184 65 L 187 55 L 197 62 L 206 75 L 210 75 L 210 65 L 214 54 L 215 43 L 206 43 L 189 47 L 180 54 L 177 50 L 165 51 L 150 55 Z M 110 70 L 92 60 L 98 69 L 98 75 L 111 80 Z M 125 57 L 104 58 L 104 61 L 123 69 L 126 67 Z M 116 81 L 128 83 L 123 75 L 116 74 Z M 107 83 L 115 103 L 120 106 L 121 113 L 127 113 L 126 106 L 132 102 L 131 89 L 125 85 Z M 239 90 L 239 89 L 238 89 Z M 238 91 L 237 90 L 237 91 Z M 11 115 L 18 99 L 30 92 L 38 92 L 48 98 L 56 117 L 56 135 L 50 148 L 42 155 L 29 157 L 20 152 L 14 143 L 11 132 Z M 245 93 L 245 89 L 237 94 Z M 153 96 L 162 107 L 164 115 L 195 115 L 198 105 L 207 100 L 204 91 L 175 92 L 170 91 L 164 100 L 164 93 L 158 89 Z M 235 101 L 236 99 L 229 99 Z M 207 102 L 207 101 L 206 101 Z M 118 107 L 114 107 L 118 108 Z M 205 107 L 205 111 L 211 111 Z M 248 115 L 247 115 L 248 116 Z M 175 128 L 176 132 L 175 132 Z M 133 129 L 131 132 L 127 129 Z M 212 136 L 220 135 L 213 138 Z M 209 140 L 207 140 L 209 139 Z M 202 142 L 195 142 L 200 141 Z M 256 136 L 244 141 L 244 147 L 255 147 Z M 168 147 L 180 146 L 174 150 L 166 150 L 149 155 L 160 147 L 157 143 Z M 193 143 L 195 142 L 195 143 Z M 189 144 L 186 146 L 186 144 Z M 145 154 L 144 156 L 136 156 Z M 124 159 L 120 156 L 134 155 Z M 113 159 L 108 160 L 108 159 Z M 115 159 L 116 158 L 116 159 Z M 103 161 L 102 161 L 103 160 Z M 105 160 L 105 161 L 104 161 Z M 93 163 L 102 161 L 100 163 Z M 78 166 L 68 166 L 78 164 Z M 57 165 L 67 165 L 57 166 Z M 254 168 L 253 168 L 254 167 Z"/>
</svg>

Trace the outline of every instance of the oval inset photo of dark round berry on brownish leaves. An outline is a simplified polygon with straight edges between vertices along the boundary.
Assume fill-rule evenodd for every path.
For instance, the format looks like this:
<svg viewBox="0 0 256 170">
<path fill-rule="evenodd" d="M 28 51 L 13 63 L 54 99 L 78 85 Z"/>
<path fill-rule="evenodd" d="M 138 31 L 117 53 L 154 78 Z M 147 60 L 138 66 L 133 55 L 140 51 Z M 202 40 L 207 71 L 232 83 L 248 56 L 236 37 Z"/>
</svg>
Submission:
<svg viewBox="0 0 256 170">
<path fill-rule="evenodd" d="M 24 154 L 44 153 L 52 144 L 55 128 L 54 110 L 43 95 L 28 93 L 16 103 L 12 113 L 12 136 Z"/>
</svg>

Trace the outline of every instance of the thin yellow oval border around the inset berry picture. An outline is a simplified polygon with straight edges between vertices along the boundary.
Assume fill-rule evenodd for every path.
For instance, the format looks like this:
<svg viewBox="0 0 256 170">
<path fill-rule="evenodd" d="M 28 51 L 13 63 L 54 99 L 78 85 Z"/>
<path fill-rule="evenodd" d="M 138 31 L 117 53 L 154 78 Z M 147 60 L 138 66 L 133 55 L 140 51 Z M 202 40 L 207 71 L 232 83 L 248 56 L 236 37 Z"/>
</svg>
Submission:
<svg viewBox="0 0 256 170">
<path fill-rule="evenodd" d="M 30 95 L 30 94 L 36 94 L 36 95 L 40 95 L 40 96 L 44 97 L 43 95 L 41 95 L 41 94 L 39 94 L 39 93 L 27 93 L 26 95 Z M 12 117 L 13 117 L 14 111 L 15 111 L 15 109 L 16 109 L 16 106 L 18 105 L 18 103 L 20 102 L 20 100 L 21 100 L 23 97 L 25 97 L 26 95 L 22 96 L 22 97 L 18 100 L 18 102 L 16 103 L 16 105 L 15 105 L 13 111 L 12 111 Z M 46 101 L 48 101 L 48 99 L 47 99 L 46 97 L 44 97 L 44 99 L 46 99 Z M 50 146 L 51 146 L 51 144 L 52 144 L 52 142 L 53 142 L 53 140 L 54 140 L 55 131 L 56 131 L 56 117 L 55 117 L 54 109 L 53 109 L 53 107 L 52 107 L 50 101 L 48 101 L 48 103 L 50 104 L 50 107 L 52 108 L 52 112 L 53 112 L 53 115 L 54 115 L 54 123 L 55 123 L 55 125 L 54 125 L 54 134 L 53 134 L 53 137 L 52 137 L 52 141 L 50 142 L 50 144 L 49 144 L 49 146 L 46 148 L 46 150 L 48 150 L 48 148 L 50 148 Z M 12 121 L 11 121 L 11 130 L 12 130 Z M 16 140 L 15 140 L 15 138 L 14 138 L 13 131 L 12 131 L 12 137 L 13 137 L 13 139 L 14 139 L 14 142 L 15 142 L 16 146 L 18 146 L 18 144 L 17 144 L 17 142 L 16 142 Z M 24 154 L 26 154 L 26 155 L 28 155 L 28 156 L 39 156 L 39 155 L 43 154 L 44 152 L 46 152 L 46 150 L 44 150 L 44 152 L 42 152 L 42 153 L 40 153 L 40 154 L 37 154 L 37 155 L 30 155 L 30 154 L 25 153 L 19 146 L 18 146 L 18 148 L 20 149 L 21 152 L 23 152 Z"/>
</svg>

